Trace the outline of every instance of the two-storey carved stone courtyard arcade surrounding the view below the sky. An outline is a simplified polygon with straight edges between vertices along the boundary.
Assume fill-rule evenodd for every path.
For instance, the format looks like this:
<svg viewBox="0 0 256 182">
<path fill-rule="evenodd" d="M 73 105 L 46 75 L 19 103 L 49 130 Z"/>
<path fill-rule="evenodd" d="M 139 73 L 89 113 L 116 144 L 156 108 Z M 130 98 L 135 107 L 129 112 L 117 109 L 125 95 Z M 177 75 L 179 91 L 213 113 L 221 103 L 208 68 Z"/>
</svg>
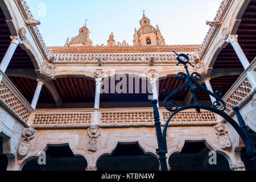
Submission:
<svg viewBox="0 0 256 182">
<path fill-rule="evenodd" d="M 39 22 L 33 19 L 26 1 L 0 0 L 0 7 L 0 162 L 6 161 L 3 168 L 29 169 L 41 151 L 53 157 L 52 161 L 59 161 L 55 154 L 61 150 L 58 147 L 63 147 L 66 162 L 76 161 L 84 170 L 105 169 L 102 161 L 106 160 L 134 161 L 135 155 L 150 159 L 147 166 L 152 164 L 156 169 L 157 142 L 148 98 L 159 100 L 164 124 L 170 113 L 163 108 L 162 90 L 168 88 L 171 92 L 178 88 L 182 82 L 175 76 L 184 71 L 176 66 L 172 51 L 189 53 L 195 65 L 189 71 L 203 75 L 200 83 L 209 90 L 221 90 L 228 107 L 226 113 L 236 119 L 232 107 L 240 107 L 255 139 L 256 1 L 222 1 L 204 42 L 178 46 L 46 47 Z M 158 31 L 154 27 L 152 30 Z M 158 35 L 156 40 L 161 38 L 163 43 L 162 34 Z M 90 40 L 86 34 L 87 39 Z M 142 93 L 141 80 L 129 86 L 134 92 L 139 88 L 139 93 L 100 93 L 104 80 L 120 75 L 146 79 L 147 92 Z M 119 81 L 115 81 L 115 86 Z M 200 91 L 197 97 L 204 104 L 214 102 Z M 187 90 L 180 90 L 176 100 L 180 105 L 188 105 L 192 96 Z M 214 127 L 217 124 L 227 131 L 231 147 L 221 148 Z M 24 137 L 29 132 L 32 134 Z M 168 141 L 171 169 L 179 169 L 175 167 L 180 160 L 176 153 L 197 156 L 208 150 L 222 156 L 224 166 L 220 168 L 251 169 L 238 134 L 224 119 L 209 111 L 181 112 L 170 122 Z M 28 150 L 22 148 L 26 142 L 30 145 Z M 123 153 L 125 147 L 135 150 L 135 155 Z M 197 150 L 191 151 L 193 147 Z M 204 162 L 198 165 L 209 169 Z M 189 169 L 189 164 L 184 168 Z"/>
</svg>

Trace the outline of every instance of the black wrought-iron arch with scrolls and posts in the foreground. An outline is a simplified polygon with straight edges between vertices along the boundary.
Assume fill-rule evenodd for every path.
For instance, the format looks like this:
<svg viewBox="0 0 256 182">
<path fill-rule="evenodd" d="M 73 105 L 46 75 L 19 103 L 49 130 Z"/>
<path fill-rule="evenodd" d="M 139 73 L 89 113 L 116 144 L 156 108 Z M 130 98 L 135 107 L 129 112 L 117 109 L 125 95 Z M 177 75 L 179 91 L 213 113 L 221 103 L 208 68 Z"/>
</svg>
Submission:
<svg viewBox="0 0 256 182">
<path fill-rule="evenodd" d="M 189 63 L 188 55 L 185 55 L 183 53 L 178 55 L 176 52 L 174 52 L 174 53 L 177 55 L 177 60 L 179 61 L 179 63 L 177 65 L 183 64 L 185 67 L 185 70 L 186 70 L 186 73 L 183 73 L 183 72 L 177 73 L 177 78 L 179 78 L 179 80 L 186 79 L 186 82 L 171 93 L 167 93 L 168 89 L 163 90 L 164 93 L 168 94 L 168 96 L 164 99 L 164 107 L 166 107 L 166 109 L 168 111 L 172 112 L 172 115 L 168 118 L 166 124 L 164 125 L 163 132 L 161 130 L 159 111 L 158 111 L 158 107 L 156 105 L 158 103 L 158 100 L 151 101 L 153 108 L 154 108 L 156 137 L 158 139 L 158 149 L 156 149 L 156 154 L 159 156 L 161 170 L 167 171 L 166 133 L 167 133 L 168 124 L 171 121 L 172 117 L 174 117 L 175 114 L 179 113 L 180 111 L 187 110 L 187 109 L 196 109 L 197 113 L 201 112 L 200 109 L 205 109 L 208 111 L 212 111 L 213 113 L 216 113 L 216 114 L 220 115 L 222 118 L 226 119 L 226 121 L 228 121 L 230 123 L 230 125 L 232 125 L 234 127 L 234 129 L 237 131 L 237 133 L 242 138 L 243 143 L 245 144 L 247 154 L 250 156 L 251 161 L 253 161 L 256 166 L 256 149 L 254 147 L 253 142 L 250 139 L 249 133 L 248 133 L 246 125 L 245 125 L 245 121 L 243 121 L 243 118 L 240 114 L 238 107 L 234 106 L 233 110 L 236 111 L 239 125 L 228 114 L 224 113 L 224 111 L 226 109 L 226 104 L 220 97 L 218 97 L 218 96 L 221 96 L 221 93 L 217 90 L 216 94 L 214 94 L 214 93 L 210 92 L 208 89 L 204 88 L 204 86 L 201 86 L 199 83 L 197 83 L 197 81 L 199 81 L 201 79 L 201 75 L 199 73 L 193 72 L 191 75 L 189 74 L 187 64 L 190 64 L 192 67 L 193 67 L 193 65 L 191 63 Z M 184 59 L 186 61 L 181 60 L 181 57 L 184 57 Z M 193 95 L 193 100 L 194 100 L 193 105 L 179 107 L 179 105 L 177 104 L 176 101 L 173 101 L 173 100 L 168 101 L 168 100 L 170 100 L 170 98 L 172 98 L 172 96 L 174 96 L 176 93 L 178 93 L 181 89 L 183 89 L 185 87 L 187 87 L 186 89 L 188 89 Z M 214 98 L 216 98 L 216 101 L 213 102 L 212 106 L 201 105 L 197 101 L 196 92 L 200 89 L 207 92 L 210 96 L 213 96 Z M 217 94 L 218 94 L 218 96 L 217 96 Z M 221 105 L 223 107 L 222 109 L 221 109 Z"/>
</svg>

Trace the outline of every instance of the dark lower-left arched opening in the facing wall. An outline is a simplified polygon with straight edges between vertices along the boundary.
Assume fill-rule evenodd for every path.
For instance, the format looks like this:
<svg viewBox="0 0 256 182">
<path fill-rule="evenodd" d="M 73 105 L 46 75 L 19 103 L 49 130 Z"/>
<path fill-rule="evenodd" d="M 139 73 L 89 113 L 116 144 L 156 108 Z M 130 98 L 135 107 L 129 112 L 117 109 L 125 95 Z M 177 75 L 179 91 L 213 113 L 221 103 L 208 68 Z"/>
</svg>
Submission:
<svg viewBox="0 0 256 182">
<path fill-rule="evenodd" d="M 28 161 L 22 171 L 85 171 L 87 162 L 75 156 L 69 146 L 49 146 L 46 151 L 46 165 L 39 165 L 38 158 Z"/>
</svg>

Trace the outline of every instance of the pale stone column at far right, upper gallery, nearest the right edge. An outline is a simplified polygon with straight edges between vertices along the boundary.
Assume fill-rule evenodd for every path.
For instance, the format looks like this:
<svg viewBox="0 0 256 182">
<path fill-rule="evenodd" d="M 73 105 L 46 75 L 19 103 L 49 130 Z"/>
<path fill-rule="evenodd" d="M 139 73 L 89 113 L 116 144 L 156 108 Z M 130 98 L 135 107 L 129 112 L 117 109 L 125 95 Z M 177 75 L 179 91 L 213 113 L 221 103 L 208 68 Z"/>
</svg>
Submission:
<svg viewBox="0 0 256 182">
<path fill-rule="evenodd" d="M 234 51 L 237 53 L 237 56 L 239 60 L 241 61 L 243 68 L 248 68 L 250 63 L 247 60 L 247 57 L 245 56 L 245 53 L 243 52 L 242 48 L 240 47 L 240 44 L 238 43 L 238 35 L 229 35 L 228 39 L 226 39 L 226 42 L 229 42 L 233 48 Z M 255 78 L 255 73 L 254 72 L 247 72 L 247 78 L 253 88 L 256 87 L 256 78 Z"/>
</svg>

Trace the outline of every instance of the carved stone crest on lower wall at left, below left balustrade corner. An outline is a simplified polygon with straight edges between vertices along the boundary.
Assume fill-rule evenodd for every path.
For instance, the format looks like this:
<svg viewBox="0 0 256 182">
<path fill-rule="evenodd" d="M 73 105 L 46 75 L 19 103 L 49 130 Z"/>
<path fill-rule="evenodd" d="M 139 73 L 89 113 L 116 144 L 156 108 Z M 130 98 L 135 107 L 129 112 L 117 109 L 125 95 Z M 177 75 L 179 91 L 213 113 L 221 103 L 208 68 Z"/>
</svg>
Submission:
<svg viewBox="0 0 256 182">
<path fill-rule="evenodd" d="M 32 127 L 23 130 L 22 133 L 22 142 L 19 145 L 18 153 L 20 156 L 25 156 L 30 151 L 31 143 L 30 140 L 33 139 L 36 135 L 36 130 Z"/>
</svg>

